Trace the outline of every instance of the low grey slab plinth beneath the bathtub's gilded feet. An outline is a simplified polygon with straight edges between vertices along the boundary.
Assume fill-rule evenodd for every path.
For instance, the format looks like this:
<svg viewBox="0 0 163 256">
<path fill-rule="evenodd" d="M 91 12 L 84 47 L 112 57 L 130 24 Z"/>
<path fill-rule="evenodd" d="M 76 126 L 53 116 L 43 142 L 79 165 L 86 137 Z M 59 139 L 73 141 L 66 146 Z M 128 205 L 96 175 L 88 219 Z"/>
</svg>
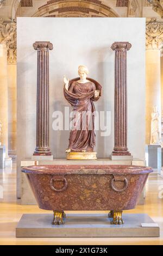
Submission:
<svg viewBox="0 0 163 256">
<path fill-rule="evenodd" d="M 16 237 L 159 236 L 159 227 L 141 227 L 141 223 L 154 223 L 147 214 L 122 214 L 122 218 L 123 225 L 112 225 L 107 214 L 66 214 L 64 225 L 52 225 L 53 214 L 23 214 Z"/>
</svg>

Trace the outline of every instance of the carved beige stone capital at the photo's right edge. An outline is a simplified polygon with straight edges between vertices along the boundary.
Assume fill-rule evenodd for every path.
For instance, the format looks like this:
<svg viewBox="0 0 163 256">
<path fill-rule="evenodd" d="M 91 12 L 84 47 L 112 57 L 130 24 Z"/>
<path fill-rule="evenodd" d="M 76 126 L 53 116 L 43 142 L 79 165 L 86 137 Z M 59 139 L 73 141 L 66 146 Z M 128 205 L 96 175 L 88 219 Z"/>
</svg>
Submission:
<svg viewBox="0 0 163 256">
<path fill-rule="evenodd" d="M 163 23 L 151 19 L 146 24 L 146 48 L 147 50 L 161 50 L 163 45 Z"/>
</svg>

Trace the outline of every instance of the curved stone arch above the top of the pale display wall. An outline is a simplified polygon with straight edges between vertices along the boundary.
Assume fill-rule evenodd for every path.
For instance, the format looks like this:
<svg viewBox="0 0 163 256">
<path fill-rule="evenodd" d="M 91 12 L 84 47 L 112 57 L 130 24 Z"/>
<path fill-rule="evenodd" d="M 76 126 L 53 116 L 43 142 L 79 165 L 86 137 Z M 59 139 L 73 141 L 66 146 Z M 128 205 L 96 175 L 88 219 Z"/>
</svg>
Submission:
<svg viewBox="0 0 163 256">
<path fill-rule="evenodd" d="M 99 0 L 51 0 L 39 7 L 33 17 L 118 17 Z"/>
</svg>

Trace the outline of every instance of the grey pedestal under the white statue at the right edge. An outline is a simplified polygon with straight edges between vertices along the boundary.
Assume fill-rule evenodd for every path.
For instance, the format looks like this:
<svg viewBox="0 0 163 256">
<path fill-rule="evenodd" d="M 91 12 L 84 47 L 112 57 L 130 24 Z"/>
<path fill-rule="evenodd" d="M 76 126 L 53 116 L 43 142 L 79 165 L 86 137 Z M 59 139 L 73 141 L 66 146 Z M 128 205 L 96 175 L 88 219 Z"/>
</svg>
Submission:
<svg viewBox="0 0 163 256">
<path fill-rule="evenodd" d="M 153 168 L 154 172 L 161 172 L 161 146 L 147 145 L 146 146 L 146 162 L 147 166 Z"/>
</svg>

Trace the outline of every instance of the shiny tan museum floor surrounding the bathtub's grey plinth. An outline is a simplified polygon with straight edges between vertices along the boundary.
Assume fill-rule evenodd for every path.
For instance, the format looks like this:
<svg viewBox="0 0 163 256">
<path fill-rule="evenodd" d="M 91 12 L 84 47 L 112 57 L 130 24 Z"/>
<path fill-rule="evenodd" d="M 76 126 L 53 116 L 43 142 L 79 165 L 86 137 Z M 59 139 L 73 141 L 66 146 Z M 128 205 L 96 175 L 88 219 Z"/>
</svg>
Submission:
<svg viewBox="0 0 163 256">
<path fill-rule="evenodd" d="M 22 214 L 43 214 L 49 211 L 41 210 L 36 205 L 20 205 L 20 200 L 16 199 L 15 164 L 12 169 L 0 169 L 0 245 L 163 245 L 163 179 L 160 176 L 149 177 L 146 204 L 137 205 L 136 209 L 126 212 L 147 213 L 159 224 L 160 237 L 16 238 L 15 227 Z"/>
</svg>

